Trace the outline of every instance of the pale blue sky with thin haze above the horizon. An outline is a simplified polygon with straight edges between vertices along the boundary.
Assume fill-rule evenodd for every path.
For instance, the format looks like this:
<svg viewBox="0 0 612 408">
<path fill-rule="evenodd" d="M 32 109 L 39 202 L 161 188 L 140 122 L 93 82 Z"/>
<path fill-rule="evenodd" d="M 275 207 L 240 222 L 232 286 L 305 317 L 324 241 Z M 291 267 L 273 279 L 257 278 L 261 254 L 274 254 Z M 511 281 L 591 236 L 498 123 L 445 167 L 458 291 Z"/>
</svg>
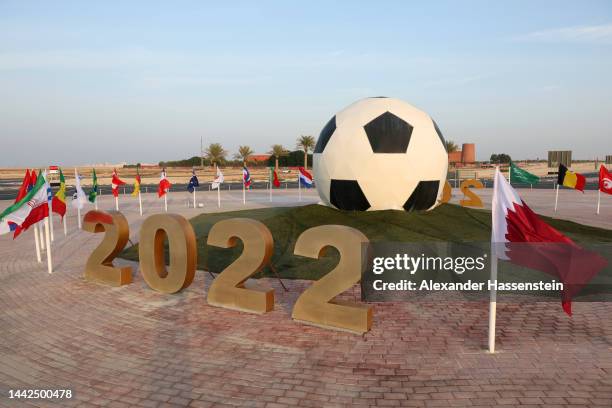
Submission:
<svg viewBox="0 0 612 408">
<path fill-rule="evenodd" d="M 1 167 L 293 148 L 376 95 L 479 159 L 612 154 L 610 1 L 0 0 L 0 27 Z"/>
</svg>

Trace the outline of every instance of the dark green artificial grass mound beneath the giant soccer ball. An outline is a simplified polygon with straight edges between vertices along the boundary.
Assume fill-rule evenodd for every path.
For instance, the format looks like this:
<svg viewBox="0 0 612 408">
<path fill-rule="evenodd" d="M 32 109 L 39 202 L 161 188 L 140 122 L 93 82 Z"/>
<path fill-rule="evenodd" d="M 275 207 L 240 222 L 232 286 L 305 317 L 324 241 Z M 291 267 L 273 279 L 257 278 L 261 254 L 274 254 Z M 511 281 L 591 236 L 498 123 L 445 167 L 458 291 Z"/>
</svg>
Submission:
<svg viewBox="0 0 612 408">
<path fill-rule="evenodd" d="M 228 218 L 252 218 L 263 222 L 274 238 L 272 264 L 283 278 L 319 279 L 338 263 L 335 249 L 319 260 L 293 254 L 297 237 L 318 225 L 347 225 L 364 233 L 372 242 L 486 242 L 491 239 L 491 212 L 444 204 L 429 212 L 405 211 L 338 211 L 321 205 L 276 207 L 256 210 L 202 214 L 190 220 L 198 242 L 198 269 L 221 272 L 242 252 L 242 243 L 230 249 L 206 244 L 210 228 Z M 577 224 L 571 221 L 542 217 L 547 223 L 580 242 L 612 242 L 612 231 Z M 166 245 L 166 259 L 168 259 Z M 138 260 L 138 245 L 120 255 Z M 255 276 L 274 276 L 268 268 Z"/>
</svg>

